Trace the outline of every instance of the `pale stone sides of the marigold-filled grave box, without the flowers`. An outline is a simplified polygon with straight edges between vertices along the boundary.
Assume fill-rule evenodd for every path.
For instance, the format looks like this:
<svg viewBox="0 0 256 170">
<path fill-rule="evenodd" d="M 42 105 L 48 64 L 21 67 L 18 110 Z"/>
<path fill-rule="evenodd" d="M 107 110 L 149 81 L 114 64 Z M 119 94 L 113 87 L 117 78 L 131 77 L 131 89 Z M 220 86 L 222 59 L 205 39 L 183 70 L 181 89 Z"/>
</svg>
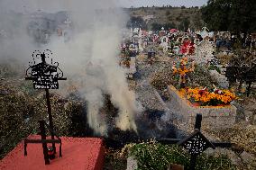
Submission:
<svg viewBox="0 0 256 170">
<path fill-rule="evenodd" d="M 235 106 L 194 106 L 185 96 L 179 94 L 173 85 L 169 85 L 168 90 L 171 99 L 169 108 L 177 114 L 180 122 L 193 126 L 197 113 L 201 113 L 203 126 L 210 129 L 225 130 L 233 125 L 236 116 Z"/>
</svg>

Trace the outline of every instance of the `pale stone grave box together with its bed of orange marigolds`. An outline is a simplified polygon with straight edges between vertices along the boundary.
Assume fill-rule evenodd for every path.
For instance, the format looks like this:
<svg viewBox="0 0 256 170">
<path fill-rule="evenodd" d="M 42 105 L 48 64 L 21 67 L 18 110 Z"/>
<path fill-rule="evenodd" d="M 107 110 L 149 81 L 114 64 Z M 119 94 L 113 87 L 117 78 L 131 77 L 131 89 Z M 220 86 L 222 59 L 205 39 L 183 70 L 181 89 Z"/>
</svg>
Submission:
<svg viewBox="0 0 256 170">
<path fill-rule="evenodd" d="M 197 113 L 203 116 L 203 126 L 225 130 L 233 126 L 236 107 L 231 102 L 236 98 L 229 90 L 211 88 L 184 88 L 177 90 L 169 85 L 169 108 L 178 115 L 178 122 L 193 126 Z"/>
</svg>

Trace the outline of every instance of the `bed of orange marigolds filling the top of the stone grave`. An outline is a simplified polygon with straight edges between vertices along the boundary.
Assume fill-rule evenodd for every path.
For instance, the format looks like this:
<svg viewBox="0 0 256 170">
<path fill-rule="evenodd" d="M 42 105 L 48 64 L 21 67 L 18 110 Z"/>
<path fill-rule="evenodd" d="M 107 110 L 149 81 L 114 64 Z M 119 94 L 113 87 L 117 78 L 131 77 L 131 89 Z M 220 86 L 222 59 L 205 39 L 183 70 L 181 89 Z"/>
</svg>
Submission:
<svg viewBox="0 0 256 170">
<path fill-rule="evenodd" d="M 236 99 L 235 94 L 230 90 L 220 90 L 220 89 L 200 89 L 187 88 L 187 99 L 192 103 L 199 103 L 199 105 L 228 105 L 234 99 Z"/>
</svg>

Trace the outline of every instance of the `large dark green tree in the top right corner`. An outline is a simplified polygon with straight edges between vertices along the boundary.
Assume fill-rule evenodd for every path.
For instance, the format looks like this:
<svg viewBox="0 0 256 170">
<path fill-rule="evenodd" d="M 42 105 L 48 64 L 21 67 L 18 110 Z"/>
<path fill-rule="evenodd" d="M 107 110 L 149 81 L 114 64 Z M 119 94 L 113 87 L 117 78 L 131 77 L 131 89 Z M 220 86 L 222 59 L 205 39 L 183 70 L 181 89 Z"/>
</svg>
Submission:
<svg viewBox="0 0 256 170">
<path fill-rule="evenodd" d="M 215 31 L 256 31 L 254 0 L 209 0 L 201 8 L 207 27 Z"/>
</svg>

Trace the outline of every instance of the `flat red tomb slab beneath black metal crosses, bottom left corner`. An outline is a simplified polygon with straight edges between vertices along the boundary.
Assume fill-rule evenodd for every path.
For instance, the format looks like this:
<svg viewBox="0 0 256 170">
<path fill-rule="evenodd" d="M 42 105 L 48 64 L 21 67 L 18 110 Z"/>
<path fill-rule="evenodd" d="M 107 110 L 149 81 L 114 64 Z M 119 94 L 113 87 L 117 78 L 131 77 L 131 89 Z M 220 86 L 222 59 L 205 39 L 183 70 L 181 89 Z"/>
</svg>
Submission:
<svg viewBox="0 0 256 170">
<path fill-rule="evenodd" d="M 32 135 L 29 139 L 41 139 Z M 1 170 L 102 170 L 104 166 L 103 140 L 96 138 L 61 137 L 62 157 L 59 158 L 59 144 L 56 144 L 56 158 L 50 165 L 44 165 L 41 144 L 28 144 L 24 157 L 23 142 L 19 143 L 4 159 Z M 50 145 L 50 144 L 49 144 Z"/>
</svg>

